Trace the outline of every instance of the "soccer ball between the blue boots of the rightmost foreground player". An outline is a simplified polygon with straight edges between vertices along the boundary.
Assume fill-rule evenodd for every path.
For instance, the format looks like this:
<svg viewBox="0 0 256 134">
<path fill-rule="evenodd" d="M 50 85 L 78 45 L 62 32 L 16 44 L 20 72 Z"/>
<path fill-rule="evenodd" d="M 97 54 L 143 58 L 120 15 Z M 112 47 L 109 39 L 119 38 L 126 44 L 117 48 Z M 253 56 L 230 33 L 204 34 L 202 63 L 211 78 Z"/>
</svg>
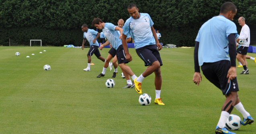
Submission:
<svg viewBox="0 0 256 134">
<path fill-rule="evenodd" d="M 226 127 L 229 130 L 238 130 L 241 127 L 241 118 L 235 114 L 230 114 L 226 122 Z"/>
</svg>

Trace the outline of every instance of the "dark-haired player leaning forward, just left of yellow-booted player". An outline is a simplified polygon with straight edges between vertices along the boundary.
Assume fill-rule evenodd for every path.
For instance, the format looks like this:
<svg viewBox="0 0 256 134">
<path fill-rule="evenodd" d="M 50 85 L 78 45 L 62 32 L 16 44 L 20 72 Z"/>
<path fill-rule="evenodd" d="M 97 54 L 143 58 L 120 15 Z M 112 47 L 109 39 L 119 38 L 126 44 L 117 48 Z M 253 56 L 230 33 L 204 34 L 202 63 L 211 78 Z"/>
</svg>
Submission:
<svg viewBox="0 0 256 134">
<path fill-rule="evenodd" d="M 108 40 L 107 42 L 111 43 L 112 48 L 116 50 L 118 65 L 120 66 L 122 72 L 129 74 L 129 76 L 131 76 L 133 80 L 137 78 L 131 68 L 126 65 L 129 61 L 126 60 L 121 40 L 123 29 L 115 26 L 112 23 L 104 23 L 100 18 L 94 18 L 94 20 L 92 21 L 92 26 L 95 26 L 96 28 L 102 30 L 104 32 L 104 35 L 106 36 L 106 39 Z M 119 32 L 117 32 L 117 30 L 120 32 L 120 34 Z M 100 48 L 103 48 L 104 45 L 100 46 Z M 107 65 L 107 63 L 105 63 L 105 65 Z M 128 83 L 127 81 L 127 84 L 133 85 L 131 83 L 131 80 L 130 83 Z"/>
</svg>

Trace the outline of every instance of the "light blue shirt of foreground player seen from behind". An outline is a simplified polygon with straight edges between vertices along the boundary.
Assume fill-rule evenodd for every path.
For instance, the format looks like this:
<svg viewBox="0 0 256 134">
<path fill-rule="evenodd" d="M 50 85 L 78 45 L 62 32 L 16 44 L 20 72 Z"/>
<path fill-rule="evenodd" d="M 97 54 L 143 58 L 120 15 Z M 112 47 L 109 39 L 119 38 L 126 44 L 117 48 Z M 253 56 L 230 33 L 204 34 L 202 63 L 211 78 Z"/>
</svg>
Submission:
<svg viewBox="0 0 256 134">
<path fill-rule="evenodd" d="M 236 24 L 224 16 L 215 16 L 205 22 L 195 40 L 199 42 L 199 66 L 204 62 L 230 60 L 227 36 L 237 33 Z"/>
</svg>

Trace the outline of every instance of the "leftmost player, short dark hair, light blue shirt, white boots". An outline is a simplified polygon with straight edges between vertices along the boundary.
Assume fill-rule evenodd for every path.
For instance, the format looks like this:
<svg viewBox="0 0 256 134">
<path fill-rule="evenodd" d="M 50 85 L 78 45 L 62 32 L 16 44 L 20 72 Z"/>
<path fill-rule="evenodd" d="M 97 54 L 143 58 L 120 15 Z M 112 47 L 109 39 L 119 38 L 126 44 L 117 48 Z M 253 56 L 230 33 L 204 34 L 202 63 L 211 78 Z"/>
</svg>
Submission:
<svg viewBox="0 0 256 134">
<path fill-rule="evenodd" d="M 105 60 L 105 58 L 103 58 L 100 55 L 100 51 L 98 50 L 99 44 L 97 42 L 97 38 L 99 38 L 100 33 L 93 29 L 89 29 L 87 24 L 82 25 L 82 31 L 84 32 L 84 40 L 82 43 L 82 50 L 84 50 L 84 44 L 86 42 L 86 39 L 90 43 L 90 50 L 87 53 L 88 66 L 87 66 L 87 68 L 84 68 L 84 71 L 90 71 L 90 65 L 91 65 L 91 60 L 92 60 L 93 54 L 95 54 L 95 56 L 98 59 L 100 59 L 102 62 L 105 62 L 106 60 Z"/>
</svg>

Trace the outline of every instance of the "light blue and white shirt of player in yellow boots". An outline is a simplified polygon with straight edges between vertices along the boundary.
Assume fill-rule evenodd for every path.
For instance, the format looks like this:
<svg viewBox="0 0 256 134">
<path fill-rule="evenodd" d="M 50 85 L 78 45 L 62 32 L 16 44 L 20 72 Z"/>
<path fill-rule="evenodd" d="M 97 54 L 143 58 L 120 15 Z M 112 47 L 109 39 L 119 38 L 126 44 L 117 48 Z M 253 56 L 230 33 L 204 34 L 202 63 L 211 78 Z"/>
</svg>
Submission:
<svg viewBox="0 0 256 134">
<path fill-rule="evenodd" d="M 151 27 L 154 25 L 154 22 L 150 18 L 150 15 L 147 13 L 140 13 L 140 17 L 133 19 L 130 17 L 126 20 L 123 34 L 130 34 L 134 40 L 135 49 L 141 48 L 147 45 L 156 44 L 156 40 L 153 36 Z"/>
</svg>

